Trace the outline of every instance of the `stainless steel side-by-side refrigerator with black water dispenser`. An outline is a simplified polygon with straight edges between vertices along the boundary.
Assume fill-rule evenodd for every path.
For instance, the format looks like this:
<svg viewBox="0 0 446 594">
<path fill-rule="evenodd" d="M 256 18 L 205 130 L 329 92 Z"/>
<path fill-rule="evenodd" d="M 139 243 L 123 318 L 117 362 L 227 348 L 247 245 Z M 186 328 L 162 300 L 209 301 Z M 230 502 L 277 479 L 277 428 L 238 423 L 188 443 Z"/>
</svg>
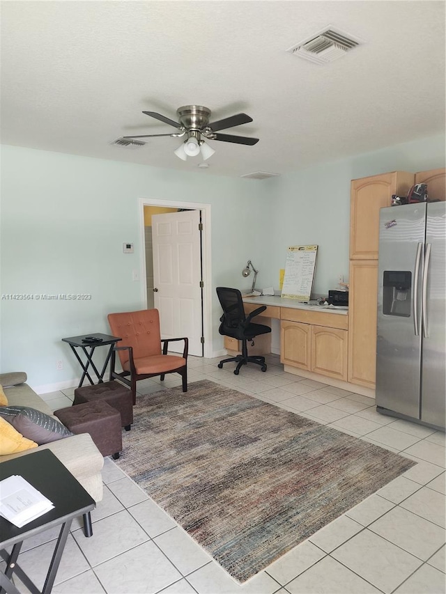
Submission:
<svg viewBox="0 0 446 594">
<path fill-rule="evenodd" d="M 381 208 L 376 409 L 445 428 L 446 203 Z"/>
</svg>

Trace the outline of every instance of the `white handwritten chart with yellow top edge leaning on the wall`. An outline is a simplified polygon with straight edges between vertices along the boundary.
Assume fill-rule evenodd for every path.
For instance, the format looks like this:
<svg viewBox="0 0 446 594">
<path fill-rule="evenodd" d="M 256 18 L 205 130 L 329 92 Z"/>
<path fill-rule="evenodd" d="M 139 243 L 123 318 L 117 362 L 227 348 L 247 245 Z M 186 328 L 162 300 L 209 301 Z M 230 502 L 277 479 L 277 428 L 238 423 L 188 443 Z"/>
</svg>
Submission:
<svg viewBox="0 0 446 594">
<path fill-rule="evenodd" d="M 317 245 L 294 245 L 286 250 L 282 297 L 309 301 L 312 295 Z"/>
</svg>

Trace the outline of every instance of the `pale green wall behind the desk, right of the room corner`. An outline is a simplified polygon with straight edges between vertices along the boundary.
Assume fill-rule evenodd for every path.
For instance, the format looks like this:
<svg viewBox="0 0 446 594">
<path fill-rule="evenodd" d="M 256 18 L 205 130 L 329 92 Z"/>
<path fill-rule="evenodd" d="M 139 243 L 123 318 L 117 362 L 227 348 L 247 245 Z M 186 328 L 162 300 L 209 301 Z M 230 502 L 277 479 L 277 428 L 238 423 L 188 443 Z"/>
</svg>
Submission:
<svg viewBox="0 0 446 594">
<path fill-rule="evenodd" d="M 326 295 L 338 288 L 339 274 L 348 279 L 351 180 L 444 166 L 445 134 L 438 134 L 266 180 L 274 217 L 268 221 L 266 237 L 272 241 L 261 263 L 266 284 L 259 286 L 278 288 L 288 246 L 318 244 L 313 290 Z"/>
</svg>

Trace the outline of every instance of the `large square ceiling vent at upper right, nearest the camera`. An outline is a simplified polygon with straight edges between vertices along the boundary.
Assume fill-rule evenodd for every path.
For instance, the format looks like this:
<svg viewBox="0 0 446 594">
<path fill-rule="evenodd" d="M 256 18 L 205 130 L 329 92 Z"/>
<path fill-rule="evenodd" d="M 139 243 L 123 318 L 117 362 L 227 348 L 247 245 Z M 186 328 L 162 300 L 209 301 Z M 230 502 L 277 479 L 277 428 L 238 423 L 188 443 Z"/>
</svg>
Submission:
<svg viewBox="0 0 446 594">
<path fill-rule="evenodd" d="M 354 38 L 348 33 L 341 33 L 339 29 L 334 29 L 329 25 L 286 51 L 316 64 L 327 64 L 345 56 L 347 52 L 358 45 L 362 45 L 362 41 L 358 38 Z"/>
</svg>

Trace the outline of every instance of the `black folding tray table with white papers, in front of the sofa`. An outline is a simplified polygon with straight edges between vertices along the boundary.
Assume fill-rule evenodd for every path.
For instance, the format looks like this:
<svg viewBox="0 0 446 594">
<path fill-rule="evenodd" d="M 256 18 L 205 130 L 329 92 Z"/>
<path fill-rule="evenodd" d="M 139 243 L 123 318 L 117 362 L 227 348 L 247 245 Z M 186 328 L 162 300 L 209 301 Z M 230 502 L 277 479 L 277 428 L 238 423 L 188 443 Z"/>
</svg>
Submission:
<svg viewBox="0 0 446 594">
<path fill-rule="evenodd" d="M 54 509 L 25 524 L 22 528 L 17 528 L 7 519 L 0 517 L 0 556 L 3 561 L 6 561 L 6 570 L 0 571 L 0 592 L 20 594 L 11 581 L 11 577 L 15 573 L 32 594 L 40 594 L 36 584 L 33 584 L 18 565 L 17 557 L 24 540 L 61 525 L 59 538 L 41 591 L 41 594 L 49 594 L 56 578 L 71 522 L 75 517 L 89 514 L 95 508 L 95 501 L 49 450 L 33 452 L 1 462 L 0 480 L 13 476 L 13 474 L 22 476 L 45 495 L 54 504 Z M 10 546 L 13 549 L 8 553 L 6 549 Z"/>
</svg>

